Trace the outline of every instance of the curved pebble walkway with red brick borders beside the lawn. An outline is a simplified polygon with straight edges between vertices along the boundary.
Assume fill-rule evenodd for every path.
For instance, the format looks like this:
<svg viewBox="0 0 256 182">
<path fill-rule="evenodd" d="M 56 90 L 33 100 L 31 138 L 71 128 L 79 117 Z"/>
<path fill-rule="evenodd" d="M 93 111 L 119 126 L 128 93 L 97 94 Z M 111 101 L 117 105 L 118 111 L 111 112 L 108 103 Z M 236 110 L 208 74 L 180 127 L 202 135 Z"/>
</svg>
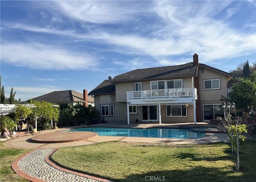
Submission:
<svg viewBox="0 0 256 182">
<path fill-rule="evenodd" d="M 54 151 L 54 149 L 38 149 L 29 152 L 15 160 L 12 168 L 21 177 L 34 182 L 110 182 L 53 164 L 49 156 Z"/>
</svg>

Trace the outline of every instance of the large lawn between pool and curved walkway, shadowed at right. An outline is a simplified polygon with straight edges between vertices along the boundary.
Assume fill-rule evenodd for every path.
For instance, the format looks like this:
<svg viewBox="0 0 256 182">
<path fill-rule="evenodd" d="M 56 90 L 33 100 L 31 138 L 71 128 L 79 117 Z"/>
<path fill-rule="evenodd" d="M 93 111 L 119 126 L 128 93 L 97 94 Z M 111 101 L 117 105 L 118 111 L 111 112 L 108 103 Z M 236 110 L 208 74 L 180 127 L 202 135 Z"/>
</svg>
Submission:
<svg viewBox="0 0 256 182">
<path fill-rule="evenodd" d="M 58 149 L 52 160 L 69 169 L 116 182 L 254 182 L 256 140 L 240 148 L 240 169 L 229 144 L 103 142 Z"/>
</svg>

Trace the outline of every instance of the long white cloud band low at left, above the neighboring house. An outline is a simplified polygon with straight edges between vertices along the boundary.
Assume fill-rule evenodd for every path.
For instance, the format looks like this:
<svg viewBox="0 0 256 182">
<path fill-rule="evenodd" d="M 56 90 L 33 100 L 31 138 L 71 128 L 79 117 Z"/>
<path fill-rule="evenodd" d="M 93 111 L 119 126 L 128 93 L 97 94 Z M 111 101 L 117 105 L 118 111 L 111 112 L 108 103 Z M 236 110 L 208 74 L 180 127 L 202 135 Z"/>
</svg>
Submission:
<svg viewBox="0 0 256 182">
<path fill-rule="evenodd" d="M 16 66 L 46 70 L 93 70 L 98 66 L 98 60 L 88 54 L 38 43 L 1 44 L 1 61 Z"/>
</svg>

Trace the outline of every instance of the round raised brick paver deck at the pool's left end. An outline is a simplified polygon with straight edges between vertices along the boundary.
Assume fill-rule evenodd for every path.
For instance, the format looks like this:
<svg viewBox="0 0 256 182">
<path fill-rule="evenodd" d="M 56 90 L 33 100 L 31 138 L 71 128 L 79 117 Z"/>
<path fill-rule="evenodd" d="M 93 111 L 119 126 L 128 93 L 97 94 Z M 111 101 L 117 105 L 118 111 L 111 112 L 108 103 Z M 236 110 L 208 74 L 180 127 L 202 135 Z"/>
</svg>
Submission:
<svg viewBox="0 0 256 182">
<path fill-rule="evenodd" d="M 98 134 L 94 132 L 54 132 L 34 136 L 31 140 L 36 143 L 63 143 L 88 140 L 97 136 Z"/>
</svg>

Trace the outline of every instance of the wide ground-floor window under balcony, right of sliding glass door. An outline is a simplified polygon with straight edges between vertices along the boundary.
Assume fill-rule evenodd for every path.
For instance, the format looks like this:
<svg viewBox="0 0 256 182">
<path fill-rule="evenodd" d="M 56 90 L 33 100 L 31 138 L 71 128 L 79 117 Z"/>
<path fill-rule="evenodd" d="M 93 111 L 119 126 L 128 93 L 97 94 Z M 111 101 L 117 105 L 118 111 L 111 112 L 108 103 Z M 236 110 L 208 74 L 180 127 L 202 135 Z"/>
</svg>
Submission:
<svg viewBox="0 0 256 182">
<path fill-rule="evenodd" d="M 166 117 L 186 117 L 187 107 L 185 105 L 166 106 Z"/>
</svg>

